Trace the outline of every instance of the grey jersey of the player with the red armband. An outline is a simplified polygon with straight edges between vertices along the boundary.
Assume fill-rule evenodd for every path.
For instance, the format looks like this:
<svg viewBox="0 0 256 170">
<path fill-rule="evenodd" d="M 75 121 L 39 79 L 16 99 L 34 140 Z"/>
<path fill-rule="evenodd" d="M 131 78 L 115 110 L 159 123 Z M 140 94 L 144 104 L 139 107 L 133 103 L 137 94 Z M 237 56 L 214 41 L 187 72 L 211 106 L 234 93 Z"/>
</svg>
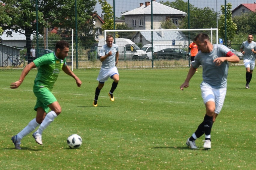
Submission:
<svg viewBox="0 0 256 170">
<path fill-rule="evenodd" d="M 191 65 L 194 68 L 198 68 L 202 65 L 203 84 L 216 89 L 227 87 L 228 62 L 225 61 L 220 66 L 215 66 L 213 60 L 218 57 L 226 57 L 226 54 L 229 51 L 230 49 L 225 45 L 214 44 L 211 52 L 202 53 L 199 51 L 197 53 L 195 60 L 191 62 Z"/>
</svg>

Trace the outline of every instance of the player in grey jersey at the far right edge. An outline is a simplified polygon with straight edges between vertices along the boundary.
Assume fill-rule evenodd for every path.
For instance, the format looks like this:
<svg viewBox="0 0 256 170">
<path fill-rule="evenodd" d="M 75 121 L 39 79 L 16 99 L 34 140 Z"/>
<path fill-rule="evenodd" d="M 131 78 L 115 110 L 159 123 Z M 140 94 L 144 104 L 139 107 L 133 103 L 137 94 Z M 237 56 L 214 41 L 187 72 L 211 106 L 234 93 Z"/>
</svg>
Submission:
<svg viewBox="0 0 256 170">
<path fill-rule="evenodd" d="M 248 35 L 247 41 L 243 42 L 240 51 L 242 54 L 244 54 L 244 65 L 246 69 L 246 74 L 245 74 L 245 88 L 250 89 L 249 83 L 252 78 L 252 71 L 255 66 L 255 53 L 256 53 L 256 42 L 252 41 L 253 36 L 251 34 Z"/>
</svg>

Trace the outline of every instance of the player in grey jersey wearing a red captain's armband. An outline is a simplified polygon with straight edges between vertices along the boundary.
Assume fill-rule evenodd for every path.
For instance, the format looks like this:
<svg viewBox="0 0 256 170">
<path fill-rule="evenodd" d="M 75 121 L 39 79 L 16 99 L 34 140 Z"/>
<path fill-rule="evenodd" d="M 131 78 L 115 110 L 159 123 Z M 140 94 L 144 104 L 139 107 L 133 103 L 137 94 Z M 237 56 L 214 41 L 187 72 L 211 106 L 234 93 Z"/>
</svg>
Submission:
<svg viewBox="0 0 256 170">
<path fill-rule="evenodd" d="M 197 149 L 195 140 L 205 133 L 203 148 L 210 149 L 212 124 L 221 111 L 227 91 L 227 62 L 238 63 L 239 57 L 224 45 L 212 45 L 208 35 L 204 33 L 198 34 L 194 40 L 200 51 L 191 62 L 187 78 L 180 88 L 183 90 L 184 87 L 189 86 L 189 81 L 196 69 L 202 65 L 203 82 L 200 87 L 206 106 L 206 115 L 195 133 L 187 139 L 186 144 L 192 149 Z"/>
</svg>

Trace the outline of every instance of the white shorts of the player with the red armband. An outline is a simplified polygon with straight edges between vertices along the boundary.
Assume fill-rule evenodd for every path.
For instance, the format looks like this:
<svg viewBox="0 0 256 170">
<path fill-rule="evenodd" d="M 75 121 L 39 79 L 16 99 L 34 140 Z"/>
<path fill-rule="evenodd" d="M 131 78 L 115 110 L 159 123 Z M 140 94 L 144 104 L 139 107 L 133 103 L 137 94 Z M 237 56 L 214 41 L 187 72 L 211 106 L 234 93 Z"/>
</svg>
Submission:
<svg viewBox="0 0 256 170">
<path fill-rule="evenodd" d="M 227 88 L 215 89 L 202 84 L 200 87 L 204 104 L 206 104 L 207 101 L 214 101 L 215 113 L 219 114 L 224 104 Z"/>
</svg>

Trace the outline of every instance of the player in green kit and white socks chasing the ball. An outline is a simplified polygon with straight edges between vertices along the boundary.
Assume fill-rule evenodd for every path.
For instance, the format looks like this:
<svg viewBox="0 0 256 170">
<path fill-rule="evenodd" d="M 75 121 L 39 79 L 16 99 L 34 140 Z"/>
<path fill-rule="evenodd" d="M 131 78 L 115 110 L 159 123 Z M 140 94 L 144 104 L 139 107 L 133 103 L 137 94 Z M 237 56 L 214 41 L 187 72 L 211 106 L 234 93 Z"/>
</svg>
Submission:
<svg viewBox="0 0 256 170">
<path fill-rule="evenodd" d="M 34 107 L 36 117 L 31 120 L 20 133 L 11 138 L 16 149 L 21 149 L 21 139 L 35 130 L 39 125 L 38 130 L 36 130 L 32 136 L 39 145 L 42 145 L 43 130 L 61 113 L 61 107 L 51 92 L 61 69 L 67 75 L 70 75 L 75 79 L 78 87 L 81 86 L 81 80 L 66 65 L 65 58 L 68 56 L 68 52 L 69 44 L 66 41 L 58 41 L 53 53 L 45 54 L 42 57 L 33 60 L 24 68 L 20 75 L 20 79 L 11 83 L 11 89 L 18 88 L 29 71 L 32 68 L 38 67 L 38 73 L 33 86 L 33 92 L 37 97 Z M 51 109 L 51 111 L 48 113 L 49 109 Z"/>
</svg>

